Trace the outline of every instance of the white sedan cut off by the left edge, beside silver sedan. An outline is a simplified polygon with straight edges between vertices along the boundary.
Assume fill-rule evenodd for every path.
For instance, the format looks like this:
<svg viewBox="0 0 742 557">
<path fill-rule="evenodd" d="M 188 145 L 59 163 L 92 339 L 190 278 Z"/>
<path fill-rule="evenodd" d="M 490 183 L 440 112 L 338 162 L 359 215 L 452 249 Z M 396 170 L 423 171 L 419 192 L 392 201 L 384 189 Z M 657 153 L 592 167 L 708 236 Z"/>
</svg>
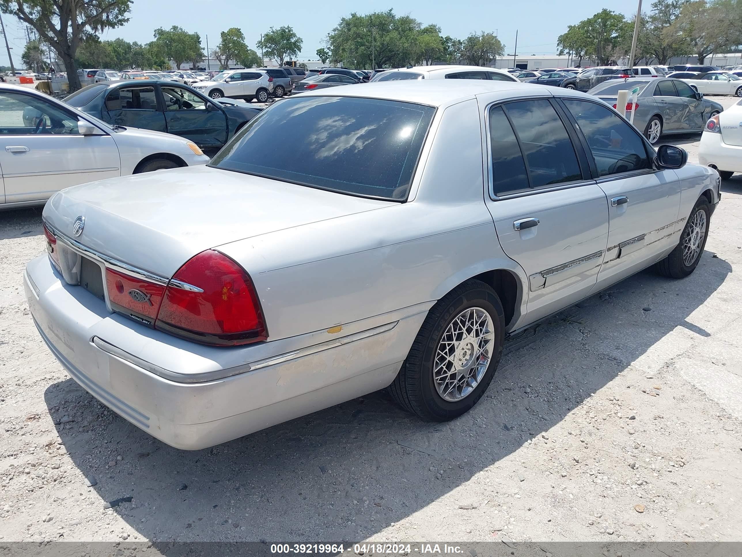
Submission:
<svg viewBox="0 0 742 557">
<path fill-rule="evenodd" d="M 183 137 L 108 126 L 38 91 L 0 84 L 0 209 L 43 204 L 80 183 L 208 162 Z"/>
</svg>

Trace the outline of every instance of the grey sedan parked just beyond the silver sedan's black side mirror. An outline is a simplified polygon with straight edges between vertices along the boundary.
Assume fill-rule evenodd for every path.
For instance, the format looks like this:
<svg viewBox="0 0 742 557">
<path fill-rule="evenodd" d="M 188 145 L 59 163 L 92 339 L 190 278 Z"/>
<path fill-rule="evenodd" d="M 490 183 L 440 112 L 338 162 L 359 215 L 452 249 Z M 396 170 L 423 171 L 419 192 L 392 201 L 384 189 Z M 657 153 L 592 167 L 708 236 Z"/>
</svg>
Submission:
<svg viewBox="0 0 742 557">
<path fill-rule="evenodd" d="M 701 133 L 709 118 L 724 107 L 718 102 L 704 99 L 680 79 L 624 79 L 609 81 L 588 91 L 589 94 L 617 108 L 618 91 L 639 88 L 637 106 L 629 102 L 624 107 L 626 118 L 634 108 L 634 126 L 642 130 L 649 143 L 657 143 L 663 134 Z"/>
</svg>

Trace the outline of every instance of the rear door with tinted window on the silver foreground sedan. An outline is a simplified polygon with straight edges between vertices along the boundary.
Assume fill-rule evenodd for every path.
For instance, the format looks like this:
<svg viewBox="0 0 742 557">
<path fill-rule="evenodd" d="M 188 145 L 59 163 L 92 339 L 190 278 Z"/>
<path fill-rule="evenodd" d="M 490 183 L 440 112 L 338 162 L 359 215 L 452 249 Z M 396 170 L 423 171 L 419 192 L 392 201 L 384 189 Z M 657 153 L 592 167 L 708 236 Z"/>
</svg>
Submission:
<svg viewBox="0 0 742 557">
<path fill-rule="evenodd" d="M 487 207 L 502 249 L 528 276 L 533 321 L 588 296 L 608 242 L 605 193 L 562 118 L 546 99 L 493 105 L 487 114 Z"/>
</svg>

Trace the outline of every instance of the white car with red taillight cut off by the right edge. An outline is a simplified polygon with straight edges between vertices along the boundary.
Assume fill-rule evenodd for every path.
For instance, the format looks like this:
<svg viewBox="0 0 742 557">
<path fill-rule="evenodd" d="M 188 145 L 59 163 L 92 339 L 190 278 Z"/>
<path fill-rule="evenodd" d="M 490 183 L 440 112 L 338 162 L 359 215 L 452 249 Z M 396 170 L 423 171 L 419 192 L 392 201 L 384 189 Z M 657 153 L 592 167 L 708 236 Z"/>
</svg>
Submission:
<svg viewBox="0 0 742 557">
<path fill-rule="evenodd" d="M 706 122 L 698 162 L 716 169 L 724 180 L 742 172 L 742 100 Z"/>
</svg>

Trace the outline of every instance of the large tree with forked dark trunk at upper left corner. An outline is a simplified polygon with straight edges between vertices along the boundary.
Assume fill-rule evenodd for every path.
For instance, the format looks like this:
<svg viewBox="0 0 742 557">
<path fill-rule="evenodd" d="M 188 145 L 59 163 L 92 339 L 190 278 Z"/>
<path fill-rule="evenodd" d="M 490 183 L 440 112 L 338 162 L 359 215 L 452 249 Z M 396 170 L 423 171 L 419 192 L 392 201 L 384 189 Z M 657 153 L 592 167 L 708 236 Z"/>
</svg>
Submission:
<svg viewBox="0 0 742 557">
<path fill-rule="evenodd" d="M 86 36 L 128 22 L 131 0 L 0 0 L 0 10 L 39 33 L 65 63 L 70 91 L 80 88 L 75 57 Z"/>
</svg>

